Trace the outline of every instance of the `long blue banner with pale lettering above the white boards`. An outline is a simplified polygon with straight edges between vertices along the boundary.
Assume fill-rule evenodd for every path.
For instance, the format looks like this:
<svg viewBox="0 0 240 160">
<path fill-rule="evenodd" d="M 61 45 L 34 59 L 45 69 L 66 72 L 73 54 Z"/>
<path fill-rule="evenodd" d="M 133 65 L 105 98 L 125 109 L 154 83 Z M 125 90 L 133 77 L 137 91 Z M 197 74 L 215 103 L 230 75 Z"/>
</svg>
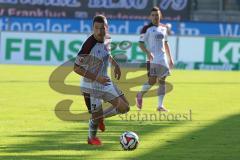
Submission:
<svg viewBox="0 0 240 160">
<path fill-rule="evenodd" d="M 117 20 L 109 19 L 109 31 L 114 34 L 139 34 L 148 20 Z M 210 23 L 190 21 L 162 21 L 170 23 L 175 35 L 189 36 L 240 36 L 238 23 Z M 18 18 L 1 17 L 0 29 L 3 31 L 30 32 L 64 32 L 90 33 L 91 19 L 61 19 L 61 18 Z"/>
</svg>

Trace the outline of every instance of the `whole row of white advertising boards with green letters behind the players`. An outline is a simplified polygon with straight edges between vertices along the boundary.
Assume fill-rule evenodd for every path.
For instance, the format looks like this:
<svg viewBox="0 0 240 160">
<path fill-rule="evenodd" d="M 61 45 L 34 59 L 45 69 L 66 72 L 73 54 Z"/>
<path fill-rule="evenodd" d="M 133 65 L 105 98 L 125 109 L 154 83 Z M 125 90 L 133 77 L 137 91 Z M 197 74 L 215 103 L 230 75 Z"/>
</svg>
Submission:
<svg viewBox="0 0 240 160">
<path fill-rule="evenodd" d="M 0 63 L 60 65 L 76 56 L 87 34 L 1 32 Z M 144 63 L 138 35 L 111 35 L 111 54 L 128 63 Z M 239 70 L 240 38 L 170 36 L 180 69 Z"/>
</svg>

